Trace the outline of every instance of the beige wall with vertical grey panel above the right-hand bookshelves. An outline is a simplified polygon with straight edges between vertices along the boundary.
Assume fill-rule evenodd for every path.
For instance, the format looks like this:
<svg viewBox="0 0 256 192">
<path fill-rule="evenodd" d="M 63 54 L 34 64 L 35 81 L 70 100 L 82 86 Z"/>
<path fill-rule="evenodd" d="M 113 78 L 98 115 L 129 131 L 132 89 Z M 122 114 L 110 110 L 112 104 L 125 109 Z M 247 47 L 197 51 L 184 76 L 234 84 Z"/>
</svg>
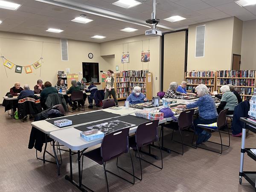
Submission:
<svg viewBox="0 0 256 192">
<path fill-rule="evenodd" d="M 196 26 L 205 26 L 204 57 L 195 58 Z M 189 26 L 187 70 L 230 70 L 234 17 Z"/>
</svg>

